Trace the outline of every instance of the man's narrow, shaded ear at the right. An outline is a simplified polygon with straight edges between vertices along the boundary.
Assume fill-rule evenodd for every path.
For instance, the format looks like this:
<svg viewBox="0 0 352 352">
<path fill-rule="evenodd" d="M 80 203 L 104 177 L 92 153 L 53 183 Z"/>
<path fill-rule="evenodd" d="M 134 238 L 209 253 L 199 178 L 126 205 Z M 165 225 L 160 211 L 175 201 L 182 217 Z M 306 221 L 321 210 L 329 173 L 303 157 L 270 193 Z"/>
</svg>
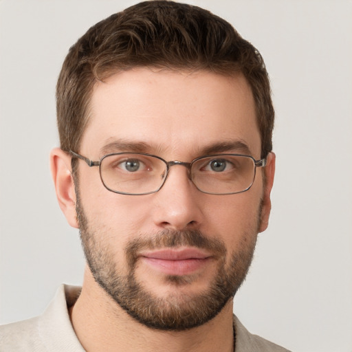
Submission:
<svg viewBox="0 0 352 352">
<path fill-rule="evenodd" d="M 263 232 L 267 229 L 269 224 L 270 210 L 272 209 L 272 201 L 270 200 L 270 192 L 272 192 L 272 185 L 274 184 L 275 175 L 275 159 L 276 156 L 273 152 L 267 155 L 267 164 L 263 170 L 265 173 L 265 188 L 263 192 L 263 203 L 261 209 L 261 225 L 259 226 L 259 232 Z"/>
</svg>

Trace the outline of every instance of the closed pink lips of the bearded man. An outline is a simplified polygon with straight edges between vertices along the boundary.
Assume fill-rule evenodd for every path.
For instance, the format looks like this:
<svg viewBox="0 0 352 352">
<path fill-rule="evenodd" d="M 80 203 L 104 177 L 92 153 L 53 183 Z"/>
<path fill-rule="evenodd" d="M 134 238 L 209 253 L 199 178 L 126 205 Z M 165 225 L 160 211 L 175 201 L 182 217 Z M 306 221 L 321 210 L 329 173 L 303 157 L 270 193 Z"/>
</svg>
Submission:
<svg viewBox="0 0 352 352">
<path fill-rule="evenodd" d="M 144 251 L 140 259 L 162 274 L 182 276 L 203 269 L 212 255 L 198 248 L 173 248 Z"/>
</svg>

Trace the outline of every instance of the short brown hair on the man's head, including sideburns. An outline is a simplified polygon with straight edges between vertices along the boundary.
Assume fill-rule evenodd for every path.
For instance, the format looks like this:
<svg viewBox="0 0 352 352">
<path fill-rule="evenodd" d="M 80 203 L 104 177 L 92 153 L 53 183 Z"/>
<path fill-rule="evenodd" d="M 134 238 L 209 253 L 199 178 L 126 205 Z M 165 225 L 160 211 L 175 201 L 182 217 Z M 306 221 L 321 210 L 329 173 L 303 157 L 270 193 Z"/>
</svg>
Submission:
<svg viewBox="0 0 352 352">
<path fill-rule="evenodd" d="M 94 85 L 135 67 L 239 70 L 252 88 L 261 156 L 272 151 L 274 108 L 261 54 L 225 20 L 197 6 L 144 1 L 100 21 L 73 45 L 56 87 L 61 148 L 79 151 Z"/>
</svg>

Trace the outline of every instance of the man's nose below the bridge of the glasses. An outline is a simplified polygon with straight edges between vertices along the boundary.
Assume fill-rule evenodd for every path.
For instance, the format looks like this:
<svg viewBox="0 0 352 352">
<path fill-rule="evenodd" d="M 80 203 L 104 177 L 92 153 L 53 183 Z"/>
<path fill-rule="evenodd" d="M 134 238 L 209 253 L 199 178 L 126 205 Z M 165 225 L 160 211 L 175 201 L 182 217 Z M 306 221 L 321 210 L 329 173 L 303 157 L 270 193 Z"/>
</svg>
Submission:
<svg viewBox="0 0 352 352">
<path fill-rule="evenodd" d="M 188 177 L 187 168 L 175 164 L 164 186 L 154 194 L 153 221 L 170 230 L 199 228 L 203 221 L 201 193 Z"/>
</svg>

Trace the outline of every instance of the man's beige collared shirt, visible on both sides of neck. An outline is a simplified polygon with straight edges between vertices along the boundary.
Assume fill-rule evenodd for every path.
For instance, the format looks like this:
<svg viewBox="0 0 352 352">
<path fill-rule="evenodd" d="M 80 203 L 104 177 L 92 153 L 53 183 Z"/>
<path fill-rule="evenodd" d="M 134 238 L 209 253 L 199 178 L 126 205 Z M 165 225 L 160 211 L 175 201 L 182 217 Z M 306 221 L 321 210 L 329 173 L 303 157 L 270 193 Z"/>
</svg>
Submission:
<svg viewBox="0 0 352 352">
<path fill-rule="evenodd" d="M 45 312 L 36 318 L 0 327 L 1 352 L 85 352 L 78 341 L 67 307 L 80 295 L 80 287 L 61 285 Z M 235 352 L 289 352 L 252 335 L 234 316 Z"/>
</svg>

